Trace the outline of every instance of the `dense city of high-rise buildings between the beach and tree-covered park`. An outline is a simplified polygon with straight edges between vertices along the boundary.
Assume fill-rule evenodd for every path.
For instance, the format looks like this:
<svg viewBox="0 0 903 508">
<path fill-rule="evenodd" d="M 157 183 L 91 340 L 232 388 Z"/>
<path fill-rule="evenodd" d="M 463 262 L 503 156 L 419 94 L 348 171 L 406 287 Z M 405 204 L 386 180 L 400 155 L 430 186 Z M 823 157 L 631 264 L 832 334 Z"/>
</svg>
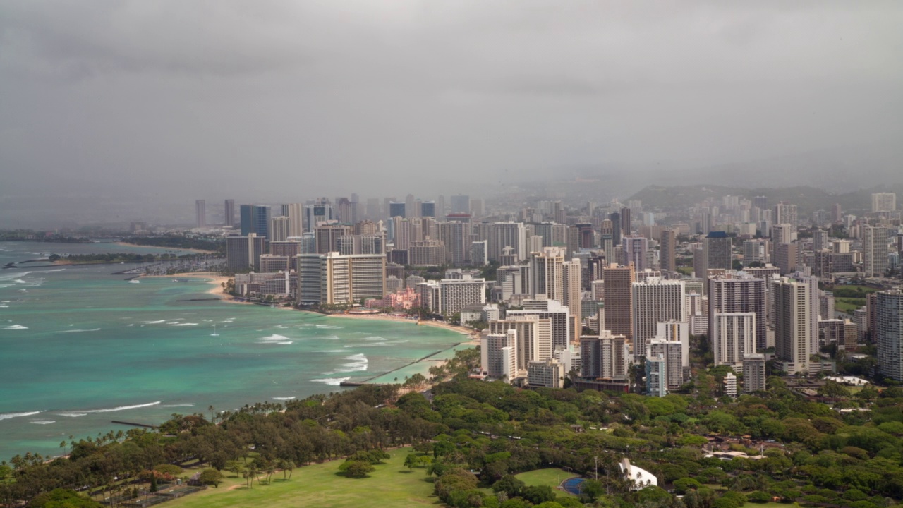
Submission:
<svg viewBox="0 0 903 508">
<path fill-rule="evenodd" d="M 352 194 L 228 200 L 222 230 L 237 295 L 473 325 L 481 379 L 560 388 L 575 372 L 582 388 L 661 397 L 691 381 L 691 337 L 704 336 L 736 395 L 777 372 L 903 381 L 896 194 L 862 204 L 806 216 L 767 196 L 512 210 Z M 209 229 L 205 202 L 196 212 Z"/>
</svg>

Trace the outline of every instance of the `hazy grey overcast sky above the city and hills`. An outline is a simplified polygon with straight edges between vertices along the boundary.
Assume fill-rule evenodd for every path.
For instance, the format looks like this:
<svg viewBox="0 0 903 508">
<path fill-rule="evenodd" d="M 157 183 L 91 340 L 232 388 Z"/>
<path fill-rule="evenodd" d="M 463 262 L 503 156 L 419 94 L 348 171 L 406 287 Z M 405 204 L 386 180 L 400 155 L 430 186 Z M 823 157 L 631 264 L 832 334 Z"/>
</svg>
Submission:
<svg viewBox="0 0 903 508">
<path fill-rule="evenodd" d="M 901 26 L 898 0 L 5 0 L 0 194 L 429 197 L 896 141 Z"/>
</svg>

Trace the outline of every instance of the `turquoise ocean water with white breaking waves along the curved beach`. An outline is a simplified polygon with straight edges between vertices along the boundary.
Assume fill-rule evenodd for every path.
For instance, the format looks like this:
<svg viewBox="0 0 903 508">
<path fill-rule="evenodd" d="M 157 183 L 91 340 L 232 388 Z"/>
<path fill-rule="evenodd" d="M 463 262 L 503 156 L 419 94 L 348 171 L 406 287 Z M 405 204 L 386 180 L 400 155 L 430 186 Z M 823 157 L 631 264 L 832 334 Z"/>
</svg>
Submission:
<svg viewBox="0 0 903 508">
<path fill-rule="evenodd" d="M 172 250 L 0 242 L 0 266 L 51 252 L 125 251 Z M 184 301 L 211 297 L 210 284 L 110 275 L 129 267 L 0 270 L 0 458 L 59 455 L 69 436 L 129 428 L 111 420 L 157 424 L 174 412 L 340 390 L 342 380 L 373 378 L 465 339 L 414 323 Z"/>
</svg>

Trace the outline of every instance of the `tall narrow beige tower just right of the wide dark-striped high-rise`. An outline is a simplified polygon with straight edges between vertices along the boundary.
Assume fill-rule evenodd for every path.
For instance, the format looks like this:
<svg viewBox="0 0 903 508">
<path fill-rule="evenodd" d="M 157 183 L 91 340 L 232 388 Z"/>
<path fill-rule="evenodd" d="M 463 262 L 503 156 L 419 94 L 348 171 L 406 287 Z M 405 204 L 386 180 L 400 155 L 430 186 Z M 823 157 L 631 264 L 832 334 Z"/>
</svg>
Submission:
<svg viewBox="0 0 903 508">
<path fill-rule="evenodd" d="M 811 348 L 811 313 L 808 284 L 781 278 L 774 283 L 775 353 L 788 375 L 808 374 Z"/>
</svg>

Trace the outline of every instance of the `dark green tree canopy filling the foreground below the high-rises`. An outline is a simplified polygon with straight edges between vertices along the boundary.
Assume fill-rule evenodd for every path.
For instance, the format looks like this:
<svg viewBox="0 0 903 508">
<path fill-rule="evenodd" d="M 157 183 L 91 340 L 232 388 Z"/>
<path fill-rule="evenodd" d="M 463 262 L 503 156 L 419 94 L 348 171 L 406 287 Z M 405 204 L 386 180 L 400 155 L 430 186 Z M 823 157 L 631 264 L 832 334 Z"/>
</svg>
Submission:
<svg viewBox="0 0 903 508">
<path fill-rule="evenodd" d="M 398 385 L 368 385 L 210 417 L 172 415 L 157 431 L 63 442 L 68 456 L 51 461 L 16 456 L 10 478 L 0 484 L 0 502 L 12 506 L 58 488 L 79 489 L 95 499 L 146 491 L 147 478 L 163 483 L 165 475 L 178 475 L 164 465 L 241 477 L 248 492 L 273 488 L 279 477 L 321 484 L 308 470 L 324 475 L 326 466 L 333 483 L 350 482 L 336 484 L 336 491 L 366 491 L 386 488 L 382 484 L 391 475 L 404 483 L 405 474 L 398 471 L 406 470 L 405 478 L 431 478 L 427 486 L 433 493 L 461 508 L 582 503 L 739 508 L 771 501 L 885 508 L 903 497 L 899 387 L 853 395 L 833 390 L 834 408 L 805 399 L 779 378 L 769 378 L 768 391 L 737 400 L 716 398 L 713 383 L 706 382 L 661 399 L 523 390 L 469 380 L 477 354 L 461 352 L 446 368 L 431 372 L 444 381 L 426 395 L 399 396 Z M 410 450 L 402 457 L 393 455 L 395 447 Z M 740 453 L 728 460 L 712 456 L 719 450 Z M 658 486 L 629 482 L 619 469 L 624 457 L 655 475 Z M 310 466 L 336 458 L 348 460 Z M 548 478 L 531 488 L 512 480 L 550 467 L 584 476 L 581 496 L 556 492 Z M 381 479 L 373 481 L 375 475 Z M 416 485 L 417 495 L 431 490 Z M 302 495 L 303 489 L 297 492 Z M 212 489 L 196 502 L 177 503 L 228 506 L 250 494 L 231 495 Z"/>
</svg>

